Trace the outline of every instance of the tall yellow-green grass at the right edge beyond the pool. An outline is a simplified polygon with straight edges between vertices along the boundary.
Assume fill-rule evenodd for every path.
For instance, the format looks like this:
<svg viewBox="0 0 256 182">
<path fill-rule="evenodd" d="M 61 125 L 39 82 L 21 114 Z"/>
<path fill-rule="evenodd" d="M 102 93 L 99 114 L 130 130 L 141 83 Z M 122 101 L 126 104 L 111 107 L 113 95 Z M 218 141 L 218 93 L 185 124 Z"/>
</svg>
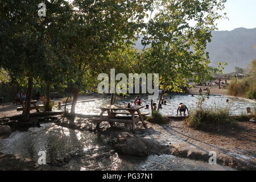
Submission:
<svg viewBox="0 0 256 182">
<path fill-rule="evenodd" d="M 253 77 L 243 80 L 232 81 L 228 86 L 230 96 L 240 96 L 250 99 L 256 99 L 256 80 Z"/>
</svg>

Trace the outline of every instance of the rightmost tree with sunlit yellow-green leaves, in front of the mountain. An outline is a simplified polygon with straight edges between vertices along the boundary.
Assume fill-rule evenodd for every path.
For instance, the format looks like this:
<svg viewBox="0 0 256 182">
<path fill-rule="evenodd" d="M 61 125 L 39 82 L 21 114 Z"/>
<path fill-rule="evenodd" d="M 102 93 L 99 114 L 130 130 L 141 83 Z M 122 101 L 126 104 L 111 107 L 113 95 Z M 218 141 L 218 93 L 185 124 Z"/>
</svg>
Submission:
<svg viewBox="0 0 256 182">
<path fill-rule="evenodd" d="M 139 67 L 145 72 L 159 73 L 160 89 L 182 92 L 181 86 L 188 78 L 200 82 L 208 73 L 218 71 L 209 67 L 209 53 L 205 49 L 211 40 L 211 31 L 216 30 L 214 21 L 222 17 L 214 9 L 224 9 L 225 2 L 155 2 L 158 11 L 143 31 L 144 49 Z M 150 48 L 146 48 L 147 45 Z"/>
</svg>

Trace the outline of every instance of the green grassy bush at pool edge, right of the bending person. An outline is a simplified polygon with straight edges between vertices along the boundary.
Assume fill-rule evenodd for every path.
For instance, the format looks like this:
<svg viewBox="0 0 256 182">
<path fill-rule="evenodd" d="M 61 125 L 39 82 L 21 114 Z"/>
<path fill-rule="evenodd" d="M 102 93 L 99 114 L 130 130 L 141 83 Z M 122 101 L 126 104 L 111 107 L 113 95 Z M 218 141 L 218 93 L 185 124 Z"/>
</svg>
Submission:
<svg viewBox="0 0 256 182">
<path fill-rule="evenodd" d="M 185 119 L 186 125 L 194 129 L 206 129 L 229 121 L 229 108 L 198 109 Z"/>
</svg>

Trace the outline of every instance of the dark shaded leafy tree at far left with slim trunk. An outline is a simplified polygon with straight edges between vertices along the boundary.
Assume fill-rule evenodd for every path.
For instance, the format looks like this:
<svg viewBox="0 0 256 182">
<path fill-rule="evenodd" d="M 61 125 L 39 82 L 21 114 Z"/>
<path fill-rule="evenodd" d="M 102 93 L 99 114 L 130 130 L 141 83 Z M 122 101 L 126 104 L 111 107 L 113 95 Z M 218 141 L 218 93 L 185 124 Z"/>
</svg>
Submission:
<svg viewBox="0 0 256 182">
<path fill-rule="evenodd" d="M 62 37 L 61 27 L 65 26 L 65 17 L 70 14 L 69 3 L 64 0 L 51 3 L 45 1 L 48 14 L 46 17 L 40 18 L 38 4 L 41 2 L 32 0 L 0 1 L 0 35 L 2 38 L 0 62 L 11 76 L 17 79 L 27 78 L 28 89 L 24 120 L 29 119 L 30 115 L 33 79 L 42 77 L 46 82 L 53 81 L 52 77 L 60 76 L 60 71 L 56 72 L 56 68 L 49 69 L 54 67 L 51 65 L 51 61 L 65 58 L 61 55 L 63 51 L 57 44 L 58 36 L 56 35 Z M 47 76 L 51 79 L 48 80 Z"/>
</svg>

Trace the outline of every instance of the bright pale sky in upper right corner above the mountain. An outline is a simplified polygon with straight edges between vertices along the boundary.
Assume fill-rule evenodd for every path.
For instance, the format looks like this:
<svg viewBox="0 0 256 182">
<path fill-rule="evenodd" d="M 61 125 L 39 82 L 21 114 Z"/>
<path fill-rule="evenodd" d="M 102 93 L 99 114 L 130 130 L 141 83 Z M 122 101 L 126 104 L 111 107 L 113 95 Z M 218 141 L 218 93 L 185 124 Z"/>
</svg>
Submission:
<svg viewBox="0 0 256 182">
<path fill-rule="evenodd" d="M 229 20 L 218 20 L 218 30 L 256 27 L 256 0 L 228 0 L 224 12 Z"/>
</svg>

